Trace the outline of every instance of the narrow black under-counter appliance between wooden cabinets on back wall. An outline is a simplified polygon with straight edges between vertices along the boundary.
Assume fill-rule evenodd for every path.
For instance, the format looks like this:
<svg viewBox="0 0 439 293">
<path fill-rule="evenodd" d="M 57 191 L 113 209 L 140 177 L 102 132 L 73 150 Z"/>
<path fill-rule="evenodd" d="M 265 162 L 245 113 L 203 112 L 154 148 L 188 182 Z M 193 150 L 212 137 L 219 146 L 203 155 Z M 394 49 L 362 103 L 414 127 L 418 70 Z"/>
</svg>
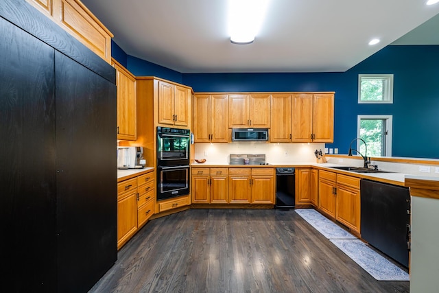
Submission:
<svg viewBox="0 0 439 293">
<path fill-rule="evenodd" d="M 276 209 L 294 209 L 296 204 L 294 168 L 276 168 Z"/>
</svg>

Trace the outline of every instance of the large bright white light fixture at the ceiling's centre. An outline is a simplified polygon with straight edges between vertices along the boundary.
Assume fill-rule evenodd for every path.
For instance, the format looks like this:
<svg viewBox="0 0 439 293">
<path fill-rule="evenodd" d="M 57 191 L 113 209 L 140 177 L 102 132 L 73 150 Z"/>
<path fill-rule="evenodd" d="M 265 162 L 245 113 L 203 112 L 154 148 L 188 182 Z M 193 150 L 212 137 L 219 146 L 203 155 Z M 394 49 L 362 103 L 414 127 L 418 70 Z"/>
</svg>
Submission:
<svg viewBox="0 0 439 293">
<path fill-rule="evenodd" d="M 269 0 L 228 0 L 230 42 L 253 43 L 259 32 Z"/>
</svg>

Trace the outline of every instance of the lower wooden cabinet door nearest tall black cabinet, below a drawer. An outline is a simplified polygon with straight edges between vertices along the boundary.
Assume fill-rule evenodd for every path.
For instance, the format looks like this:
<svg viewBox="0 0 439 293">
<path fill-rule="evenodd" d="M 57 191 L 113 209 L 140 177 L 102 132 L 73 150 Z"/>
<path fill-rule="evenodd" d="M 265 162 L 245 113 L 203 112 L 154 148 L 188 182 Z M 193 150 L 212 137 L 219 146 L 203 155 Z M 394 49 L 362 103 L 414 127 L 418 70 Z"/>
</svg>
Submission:
<svg viewBox="0 0 439 293">
<path fill-rule="evenodd" d="M 137 189 L 117 201 L 117 249 L 137 231 Z"/>
</svg>

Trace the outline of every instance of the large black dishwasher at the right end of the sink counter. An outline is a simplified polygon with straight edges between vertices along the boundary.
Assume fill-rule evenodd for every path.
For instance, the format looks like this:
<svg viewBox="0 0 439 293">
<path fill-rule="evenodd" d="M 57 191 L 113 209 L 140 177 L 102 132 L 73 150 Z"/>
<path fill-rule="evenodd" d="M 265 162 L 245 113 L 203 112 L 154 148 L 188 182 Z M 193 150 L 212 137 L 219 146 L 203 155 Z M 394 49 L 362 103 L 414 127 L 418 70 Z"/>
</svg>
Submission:
<svg viewBox="0 0 439 293">
<path fill-rule="evenodd" d="M 361 238 L 408 267 L 409 189 L 362 179 L 360 194 Z"/>
</svg>

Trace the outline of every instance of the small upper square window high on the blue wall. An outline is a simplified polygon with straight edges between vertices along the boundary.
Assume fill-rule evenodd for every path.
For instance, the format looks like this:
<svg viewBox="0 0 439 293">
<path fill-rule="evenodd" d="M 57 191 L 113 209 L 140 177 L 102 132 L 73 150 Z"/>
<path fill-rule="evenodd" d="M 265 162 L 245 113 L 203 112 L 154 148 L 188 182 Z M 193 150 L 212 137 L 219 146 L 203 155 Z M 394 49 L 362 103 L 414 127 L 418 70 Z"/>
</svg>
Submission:
<svg viewBox="0 0 439 293">
<path fill-rule="evenodd" d="M 359 74 L 359 104 L 392 104 L 393 74 Z"/>
</svg>

